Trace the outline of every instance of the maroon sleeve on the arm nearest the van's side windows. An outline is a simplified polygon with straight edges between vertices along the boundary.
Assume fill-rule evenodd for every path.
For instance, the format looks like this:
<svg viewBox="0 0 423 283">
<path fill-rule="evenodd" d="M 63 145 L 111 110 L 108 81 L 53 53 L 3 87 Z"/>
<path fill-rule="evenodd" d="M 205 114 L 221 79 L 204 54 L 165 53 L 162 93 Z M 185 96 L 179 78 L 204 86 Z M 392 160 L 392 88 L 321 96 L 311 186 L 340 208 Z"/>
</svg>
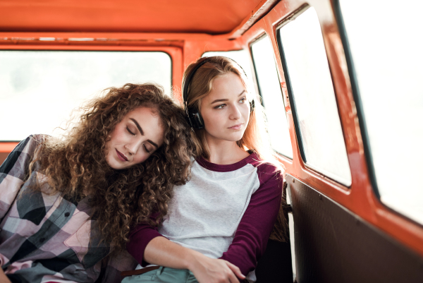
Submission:
<svg viewBox="0 0 423 283">
<path fill-rule="evenodd" d="M 259 170 L 260 167 L 264 170 Z M 251 196 L 231 246 L 221 256 L 221 259 L 238 266 L 243 275 L 255 270 L 257 261 L 266 250 L 281 205 L 282 175 L 268 164 L 259 168 L 260 186 Z"/>
</svg>

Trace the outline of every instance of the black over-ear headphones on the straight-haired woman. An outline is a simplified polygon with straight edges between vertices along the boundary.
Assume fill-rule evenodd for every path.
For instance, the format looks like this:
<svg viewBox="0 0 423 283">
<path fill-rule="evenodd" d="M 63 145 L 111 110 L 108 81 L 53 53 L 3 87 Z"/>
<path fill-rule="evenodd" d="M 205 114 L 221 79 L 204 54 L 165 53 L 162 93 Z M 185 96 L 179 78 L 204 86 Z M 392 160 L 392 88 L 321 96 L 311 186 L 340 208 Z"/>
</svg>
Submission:
<svg viewBox="0 0 423 283">
<path fill-rule="evenodd" d="M 222 56 L 223 57 L 223 56 Z M 192 68 L 192 70 L 190 71 L 190 73 L 188 73 L 188 75 L 185 78 L 185 82 L 183 83 L 183 105 L 185 108 L 185 113 L 187 114 L 188 117 L 188 121 L 190 123 L 190 126 L 193 129 L 197 129 L 200 130 L 201 128 L 204 128 L 204 121 L 202 119 L 202 116 L 200 114 L 200 112 L 198 111 L 197 107 L 188 107 L 188 85 L 190 85 L 191 79 L 194 76 L 195 72 L 201 67 L 203 66 L 205 63 L 207 63 L 207 61 L 209 61 L 210 57 L 204 57 L 203 60 L 199 60 L 197 62 L 197 65 L 194 66 Z M 229 58 L 230 59 L 230 58 Z M 231 61 L 233 61 L 231 59 Z M 235 61 L 234 61 L 235 62 Z M 236 63 L 236 62 L 235 62 Z M 241 70 L 243 70 L 245 77 L 247 77 L 247 74 L 245 74 L 245 71 L 243 69 L 243 67 L 240 66 L 240 64 L 236 63 Z M 254 99 L 250 102 L 250 113 L 252 112 L 252 110 L 255 108 L 255 102 Z"/>
</svg>

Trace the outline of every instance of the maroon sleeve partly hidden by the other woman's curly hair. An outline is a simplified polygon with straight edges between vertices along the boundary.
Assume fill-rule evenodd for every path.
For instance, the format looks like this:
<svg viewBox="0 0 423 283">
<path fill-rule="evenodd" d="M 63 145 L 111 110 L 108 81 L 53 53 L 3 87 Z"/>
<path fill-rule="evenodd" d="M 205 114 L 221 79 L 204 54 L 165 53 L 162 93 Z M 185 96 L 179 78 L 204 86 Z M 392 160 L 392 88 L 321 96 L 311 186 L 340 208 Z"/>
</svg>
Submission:
<svg viewBox="0 0 423 283">
<path fill-rule="evenodd" d="M 150 218 L 156 219 L 157 215 L 158 213 L 152 215 Z M 126 250 L 128 250 L 128 253 L 130 253 L 142 267 L 145 267 L 145 265 L 148 265 L 148 263 L 143 260 L 145 247 L 149 241 L 152 241 L 152 239 L 158 236 L 163 235 L 157 231 L 157 227 L 152 227 L 147 222 L 140 223 L 130 231 Z"/>
</svg>

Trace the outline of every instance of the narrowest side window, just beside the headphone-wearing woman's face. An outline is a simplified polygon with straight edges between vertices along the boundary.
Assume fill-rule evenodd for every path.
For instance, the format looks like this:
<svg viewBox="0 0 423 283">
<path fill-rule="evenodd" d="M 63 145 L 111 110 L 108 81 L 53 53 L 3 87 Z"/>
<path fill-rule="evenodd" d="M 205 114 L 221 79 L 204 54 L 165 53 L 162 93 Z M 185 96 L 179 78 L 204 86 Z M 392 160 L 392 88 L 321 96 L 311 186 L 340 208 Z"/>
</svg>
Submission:
<svg viewBox="0 0 423 283">
<path fill-rule="evenodd" d="M 274 59 L 274 50 L 265 35 L 251 46 L 252 58 L 269 126 L 271 146 L 276 152 L 293 158 L 281 83 Z"/>
</svg>

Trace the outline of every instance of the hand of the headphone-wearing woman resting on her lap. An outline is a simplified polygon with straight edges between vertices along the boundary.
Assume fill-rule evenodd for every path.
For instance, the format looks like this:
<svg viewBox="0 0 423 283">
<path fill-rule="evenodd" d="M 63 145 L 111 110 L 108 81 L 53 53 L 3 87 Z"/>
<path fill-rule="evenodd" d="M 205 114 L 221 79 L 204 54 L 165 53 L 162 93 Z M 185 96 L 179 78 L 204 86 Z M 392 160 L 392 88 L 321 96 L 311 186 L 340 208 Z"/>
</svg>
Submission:
<svg viewBox="0 0 423 283">
<path fill-rule="evenodd" d="M 197 255 L 190 268 L 199 283 L 239 283 L 245 279 L 240 269 L 226 260 Z"/>
</svg>

